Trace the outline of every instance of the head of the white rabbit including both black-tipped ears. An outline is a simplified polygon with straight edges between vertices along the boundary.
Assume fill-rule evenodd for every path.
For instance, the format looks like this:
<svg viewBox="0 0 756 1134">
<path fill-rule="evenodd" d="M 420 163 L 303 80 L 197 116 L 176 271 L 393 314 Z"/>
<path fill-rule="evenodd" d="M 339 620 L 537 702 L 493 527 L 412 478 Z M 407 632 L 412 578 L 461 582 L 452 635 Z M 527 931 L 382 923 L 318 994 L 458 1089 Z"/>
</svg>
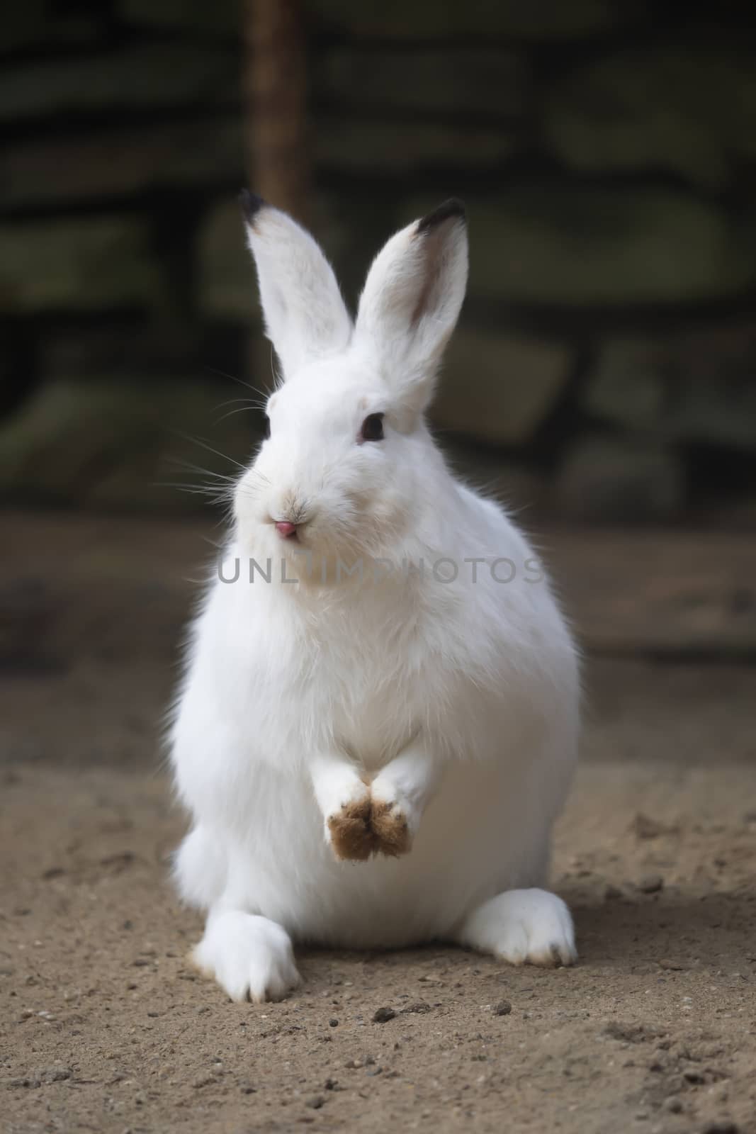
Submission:
<svg viewBox="0 0 756 1134">
<path fill-rule="evenodd" d="M 315 240 L 260 198 L 243 204 L 282 380 L 237 486 L 239 536 L 267 556 L 396 553 L 439 459 L 423 413 L 465 296 L 464 208 L 449 201 L 391 237 L 352 324 Z"/>
</svg>

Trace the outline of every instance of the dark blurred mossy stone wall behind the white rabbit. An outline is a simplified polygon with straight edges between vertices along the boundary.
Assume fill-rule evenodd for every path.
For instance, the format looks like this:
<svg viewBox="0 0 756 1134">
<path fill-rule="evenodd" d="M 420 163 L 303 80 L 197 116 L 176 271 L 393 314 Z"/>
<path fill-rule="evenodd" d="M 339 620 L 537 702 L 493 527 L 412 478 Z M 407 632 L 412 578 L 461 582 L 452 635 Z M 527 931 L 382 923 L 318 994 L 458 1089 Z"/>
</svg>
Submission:
<svg viewBox="0 0 756 1134">
<path fill-rule="evenodd" d="M 354 303 L 393 228 L 465 198 L 433 422 L 516 505 L 756 523 L 753 10 L 682 11 L 305 5 L 312 227 Z M 228 375 L 263 388 L 271 358 L 236 205 L 238 25 L 231 0 L 3 14 L 5 499 L 196 507 L 252 449 L 236 399 L 256 395 Z"/>
</svg>

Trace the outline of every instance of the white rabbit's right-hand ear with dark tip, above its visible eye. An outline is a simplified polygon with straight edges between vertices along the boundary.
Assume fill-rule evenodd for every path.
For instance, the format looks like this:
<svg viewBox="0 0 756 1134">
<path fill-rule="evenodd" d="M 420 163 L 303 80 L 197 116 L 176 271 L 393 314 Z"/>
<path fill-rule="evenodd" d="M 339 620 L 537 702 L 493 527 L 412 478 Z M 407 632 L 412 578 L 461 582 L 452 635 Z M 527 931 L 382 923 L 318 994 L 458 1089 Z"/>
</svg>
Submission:
<svg viewBox="0 0 756 1134">
<path fill-rule="evenodd" d="M 367 273 L 356 338 L 377 353 L 398 399 L 421 412 L 459 316 L 467 285 L 467 225 L 461 201 L 391 237 Z"/>
</svg>

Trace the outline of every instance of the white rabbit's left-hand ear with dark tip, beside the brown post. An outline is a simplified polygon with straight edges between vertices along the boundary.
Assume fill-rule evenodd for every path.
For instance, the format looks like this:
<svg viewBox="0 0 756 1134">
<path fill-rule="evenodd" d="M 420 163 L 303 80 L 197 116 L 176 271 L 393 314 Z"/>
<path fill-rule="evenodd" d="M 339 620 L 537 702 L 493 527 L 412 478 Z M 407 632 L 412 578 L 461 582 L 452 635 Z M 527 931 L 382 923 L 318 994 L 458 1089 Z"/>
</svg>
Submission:
<svg viewBox="0 0 756 1134">
<path fill-rule="evenodd" d="M 241 208 L 265 330 L 284 375 L 343 350 L 351 337 L 351 319 L 320 246 L 287 213 L 254 193 L 244 191 Z"/>
</svg>

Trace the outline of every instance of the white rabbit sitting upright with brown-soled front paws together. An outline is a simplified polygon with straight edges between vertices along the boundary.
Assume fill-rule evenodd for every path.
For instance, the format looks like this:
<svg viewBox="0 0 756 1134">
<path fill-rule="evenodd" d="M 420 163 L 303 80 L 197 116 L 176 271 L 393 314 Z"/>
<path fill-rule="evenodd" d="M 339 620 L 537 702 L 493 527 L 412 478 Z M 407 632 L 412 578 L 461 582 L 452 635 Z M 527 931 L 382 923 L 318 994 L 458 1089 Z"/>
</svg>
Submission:
<svg viewBox="0 0 756 1134">
<path fill-rule="evenodd" d="M 171 729 L 194 959 L 235 1000 L 297 983 L 292 940 L 570 964 L 567 906 L 536 887 L 576 758 L 575 648 L 526 540 L 423 416 L 464 208 L 389 240 L 352 324 L 313 238 L 243 203 L 284 380 Z"/>
</svg>

